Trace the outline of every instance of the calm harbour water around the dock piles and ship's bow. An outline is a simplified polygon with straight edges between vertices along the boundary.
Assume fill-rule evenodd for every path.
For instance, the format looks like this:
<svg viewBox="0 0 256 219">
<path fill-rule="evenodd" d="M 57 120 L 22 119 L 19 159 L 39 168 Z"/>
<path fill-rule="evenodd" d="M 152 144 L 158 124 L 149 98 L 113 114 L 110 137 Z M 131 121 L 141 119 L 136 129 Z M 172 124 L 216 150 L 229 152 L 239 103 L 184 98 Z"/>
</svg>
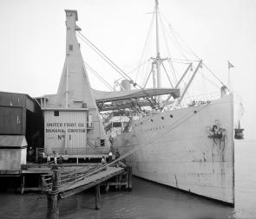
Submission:
<svg viewBox="0 0 256 219">
<path fill-rule="evenodd" d="M 235 207 L 226 207 L 160 184 L 133 178 L 132 192 L 102 194 L 95 210 L 93 194 L 61 201 L 61 219 L 84 218 L 256 218 L 256 141 L 235 145 Z M 45 218 L 47 202 L 39 194 L 0 194 L 0 218 Z"/>
</svg>

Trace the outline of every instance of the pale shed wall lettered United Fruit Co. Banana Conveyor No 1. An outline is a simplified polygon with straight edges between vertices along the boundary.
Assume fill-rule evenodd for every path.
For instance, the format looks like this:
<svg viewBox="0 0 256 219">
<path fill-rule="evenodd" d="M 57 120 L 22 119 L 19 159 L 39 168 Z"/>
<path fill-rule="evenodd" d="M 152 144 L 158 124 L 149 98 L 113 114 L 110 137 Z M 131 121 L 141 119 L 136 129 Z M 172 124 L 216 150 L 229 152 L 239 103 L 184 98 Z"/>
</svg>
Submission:
<svg viewBox="0 0 256 219">
<path fill-rule="evenodd" d="M 56 113 L 55 113 L 56 112 Z M 47 154 L 86 153 L 87 112 L 44 111 L 44 147 Z"/>
</svg>

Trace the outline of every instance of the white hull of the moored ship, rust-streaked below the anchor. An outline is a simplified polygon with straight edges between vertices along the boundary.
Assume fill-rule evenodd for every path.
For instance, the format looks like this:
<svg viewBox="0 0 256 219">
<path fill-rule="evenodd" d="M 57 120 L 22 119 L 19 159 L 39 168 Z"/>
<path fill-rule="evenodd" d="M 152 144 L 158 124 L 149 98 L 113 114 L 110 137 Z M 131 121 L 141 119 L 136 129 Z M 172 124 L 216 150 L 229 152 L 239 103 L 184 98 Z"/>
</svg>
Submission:
<svg viewBox="0 0 256 219">
<path fill-rule="evenodd" d="M 226 130 L 223 140 L 208 138 L 216 120 Z M 232 94 L 135 120 L 115 144 L 122 154 L 136 148 L 128 158 L 135 176 L 234 203 Z"/>
</svg>

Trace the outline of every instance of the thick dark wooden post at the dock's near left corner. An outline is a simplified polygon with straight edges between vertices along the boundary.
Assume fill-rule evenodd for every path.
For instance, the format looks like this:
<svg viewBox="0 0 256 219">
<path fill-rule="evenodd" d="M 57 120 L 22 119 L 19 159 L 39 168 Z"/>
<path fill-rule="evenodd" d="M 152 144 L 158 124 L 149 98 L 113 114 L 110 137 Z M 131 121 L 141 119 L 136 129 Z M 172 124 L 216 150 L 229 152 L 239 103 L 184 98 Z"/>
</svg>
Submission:
<svg viewBox="0 0 256 219">
<path fill-rule="evenodd" d="M 48 197 L 48 214 L 47 219 L 58 219 L 59 218 L 59 207 L 60 200 L 58 190 L 60 184 L 60 173 L 56 170 L 53 171 L 53 181 L 52 181 L 52 194 Z"/>
</svg>

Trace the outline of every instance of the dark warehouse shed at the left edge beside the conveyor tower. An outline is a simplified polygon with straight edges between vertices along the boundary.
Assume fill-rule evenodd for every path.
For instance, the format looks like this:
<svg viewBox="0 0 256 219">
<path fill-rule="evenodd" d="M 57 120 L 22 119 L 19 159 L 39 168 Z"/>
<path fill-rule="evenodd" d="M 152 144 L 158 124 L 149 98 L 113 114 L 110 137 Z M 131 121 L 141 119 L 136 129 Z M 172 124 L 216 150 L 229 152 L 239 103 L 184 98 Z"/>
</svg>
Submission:
<svg viewBox="0 0 256 219">
<path fill-rule="evenodd" d="M 0 121 L 0 171 L 18 171 L 43 146 L 41 107 L 28 94 L 0 92 Z"/>
</svg>

